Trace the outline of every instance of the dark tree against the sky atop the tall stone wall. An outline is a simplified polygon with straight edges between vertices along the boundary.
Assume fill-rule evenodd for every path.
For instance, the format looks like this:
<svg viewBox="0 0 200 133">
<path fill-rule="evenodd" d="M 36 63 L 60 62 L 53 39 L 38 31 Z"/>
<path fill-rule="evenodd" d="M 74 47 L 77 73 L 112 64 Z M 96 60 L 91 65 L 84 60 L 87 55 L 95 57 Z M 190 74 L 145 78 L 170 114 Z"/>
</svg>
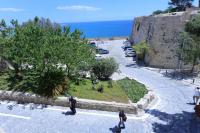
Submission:
<svg viewBox="0 0 200 133">
<path fill-rule="evenodd" d="M 170 0 L 169 5 L 176 8 L 177 11 L 184 11 L 187 7 L 192 6 L 194 0 Z"/>
</svg>

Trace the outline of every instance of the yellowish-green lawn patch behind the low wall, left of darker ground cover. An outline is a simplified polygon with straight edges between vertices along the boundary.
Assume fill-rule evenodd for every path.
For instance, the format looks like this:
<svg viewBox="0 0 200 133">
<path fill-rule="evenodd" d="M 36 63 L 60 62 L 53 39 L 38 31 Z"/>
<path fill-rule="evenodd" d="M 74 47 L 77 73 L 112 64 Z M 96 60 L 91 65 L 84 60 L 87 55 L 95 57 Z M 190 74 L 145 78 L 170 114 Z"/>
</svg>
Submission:
<svg viewBox="0 0 200 133">
<path fill-rule="evenodd" d="M 92 89 L 91 80 L 85 79 L 80 85 L 75 85 L 71 83 L 71 87 L 68 90 L 70 95 L 73 95 L 78 98 L 83 99 L 91 99 L 91 100 L 103 100 L 103 101 L 115 101 L 121 103 L 128 103 L 128 96 L 124 92 L 124 90 L 117 84 L 117 82 L 113 81 L 113 88 L 108 87 L 108 81 L 100 81 L 96 88 L 100 85 L 103 85 L 104 92 L 100 93 L 94 89 Z"/>
</svg>

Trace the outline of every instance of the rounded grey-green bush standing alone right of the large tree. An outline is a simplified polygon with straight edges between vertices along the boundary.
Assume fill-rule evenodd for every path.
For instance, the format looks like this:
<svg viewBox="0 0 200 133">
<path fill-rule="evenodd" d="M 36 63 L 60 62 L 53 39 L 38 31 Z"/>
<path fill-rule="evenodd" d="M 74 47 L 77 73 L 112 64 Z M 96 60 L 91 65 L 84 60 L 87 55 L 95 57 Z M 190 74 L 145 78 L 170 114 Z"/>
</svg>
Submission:
<svg viewBox="0 0 200 133">
<path fill-rule="evenodd" d="M 109 77 L 116 72 L 118 64 L 113 58 L 106 58 L 96 61 L 94 63 L 92 71 L 98 79 L 107 80 Z"/>
</svg>

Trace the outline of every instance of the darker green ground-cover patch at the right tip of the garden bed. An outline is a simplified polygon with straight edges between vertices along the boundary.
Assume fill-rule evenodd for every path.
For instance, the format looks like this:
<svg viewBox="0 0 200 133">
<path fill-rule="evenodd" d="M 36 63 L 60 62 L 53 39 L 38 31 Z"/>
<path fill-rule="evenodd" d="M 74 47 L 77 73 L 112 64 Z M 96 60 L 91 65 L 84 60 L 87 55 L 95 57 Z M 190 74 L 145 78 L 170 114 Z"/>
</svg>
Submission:
<svg viewBox="0 0 200 133">
<path fill-rule="evenodd" d="M 134 103 L 138 102 L 148 92 L 145 85 L 136 80 L 125 78 L 117 81 L 117 83 L 124 89 L 129 99 Z"/>
</svg>

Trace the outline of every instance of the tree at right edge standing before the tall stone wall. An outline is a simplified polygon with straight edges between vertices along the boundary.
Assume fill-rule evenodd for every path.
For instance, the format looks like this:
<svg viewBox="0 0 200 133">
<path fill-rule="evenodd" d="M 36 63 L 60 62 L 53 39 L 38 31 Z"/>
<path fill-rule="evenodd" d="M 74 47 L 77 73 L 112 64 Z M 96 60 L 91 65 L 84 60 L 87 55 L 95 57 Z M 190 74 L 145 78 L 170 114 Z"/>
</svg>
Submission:
<svg viewBox="0 0 200 133">
<path fill-rule="evenodd" d="M 200 59 L 200 16 L 197 16 L 185 25 L 185 33 L 181 34 L 179 55 L 187 63 L 192 63 L 191 72 Z"/>
</svg>

